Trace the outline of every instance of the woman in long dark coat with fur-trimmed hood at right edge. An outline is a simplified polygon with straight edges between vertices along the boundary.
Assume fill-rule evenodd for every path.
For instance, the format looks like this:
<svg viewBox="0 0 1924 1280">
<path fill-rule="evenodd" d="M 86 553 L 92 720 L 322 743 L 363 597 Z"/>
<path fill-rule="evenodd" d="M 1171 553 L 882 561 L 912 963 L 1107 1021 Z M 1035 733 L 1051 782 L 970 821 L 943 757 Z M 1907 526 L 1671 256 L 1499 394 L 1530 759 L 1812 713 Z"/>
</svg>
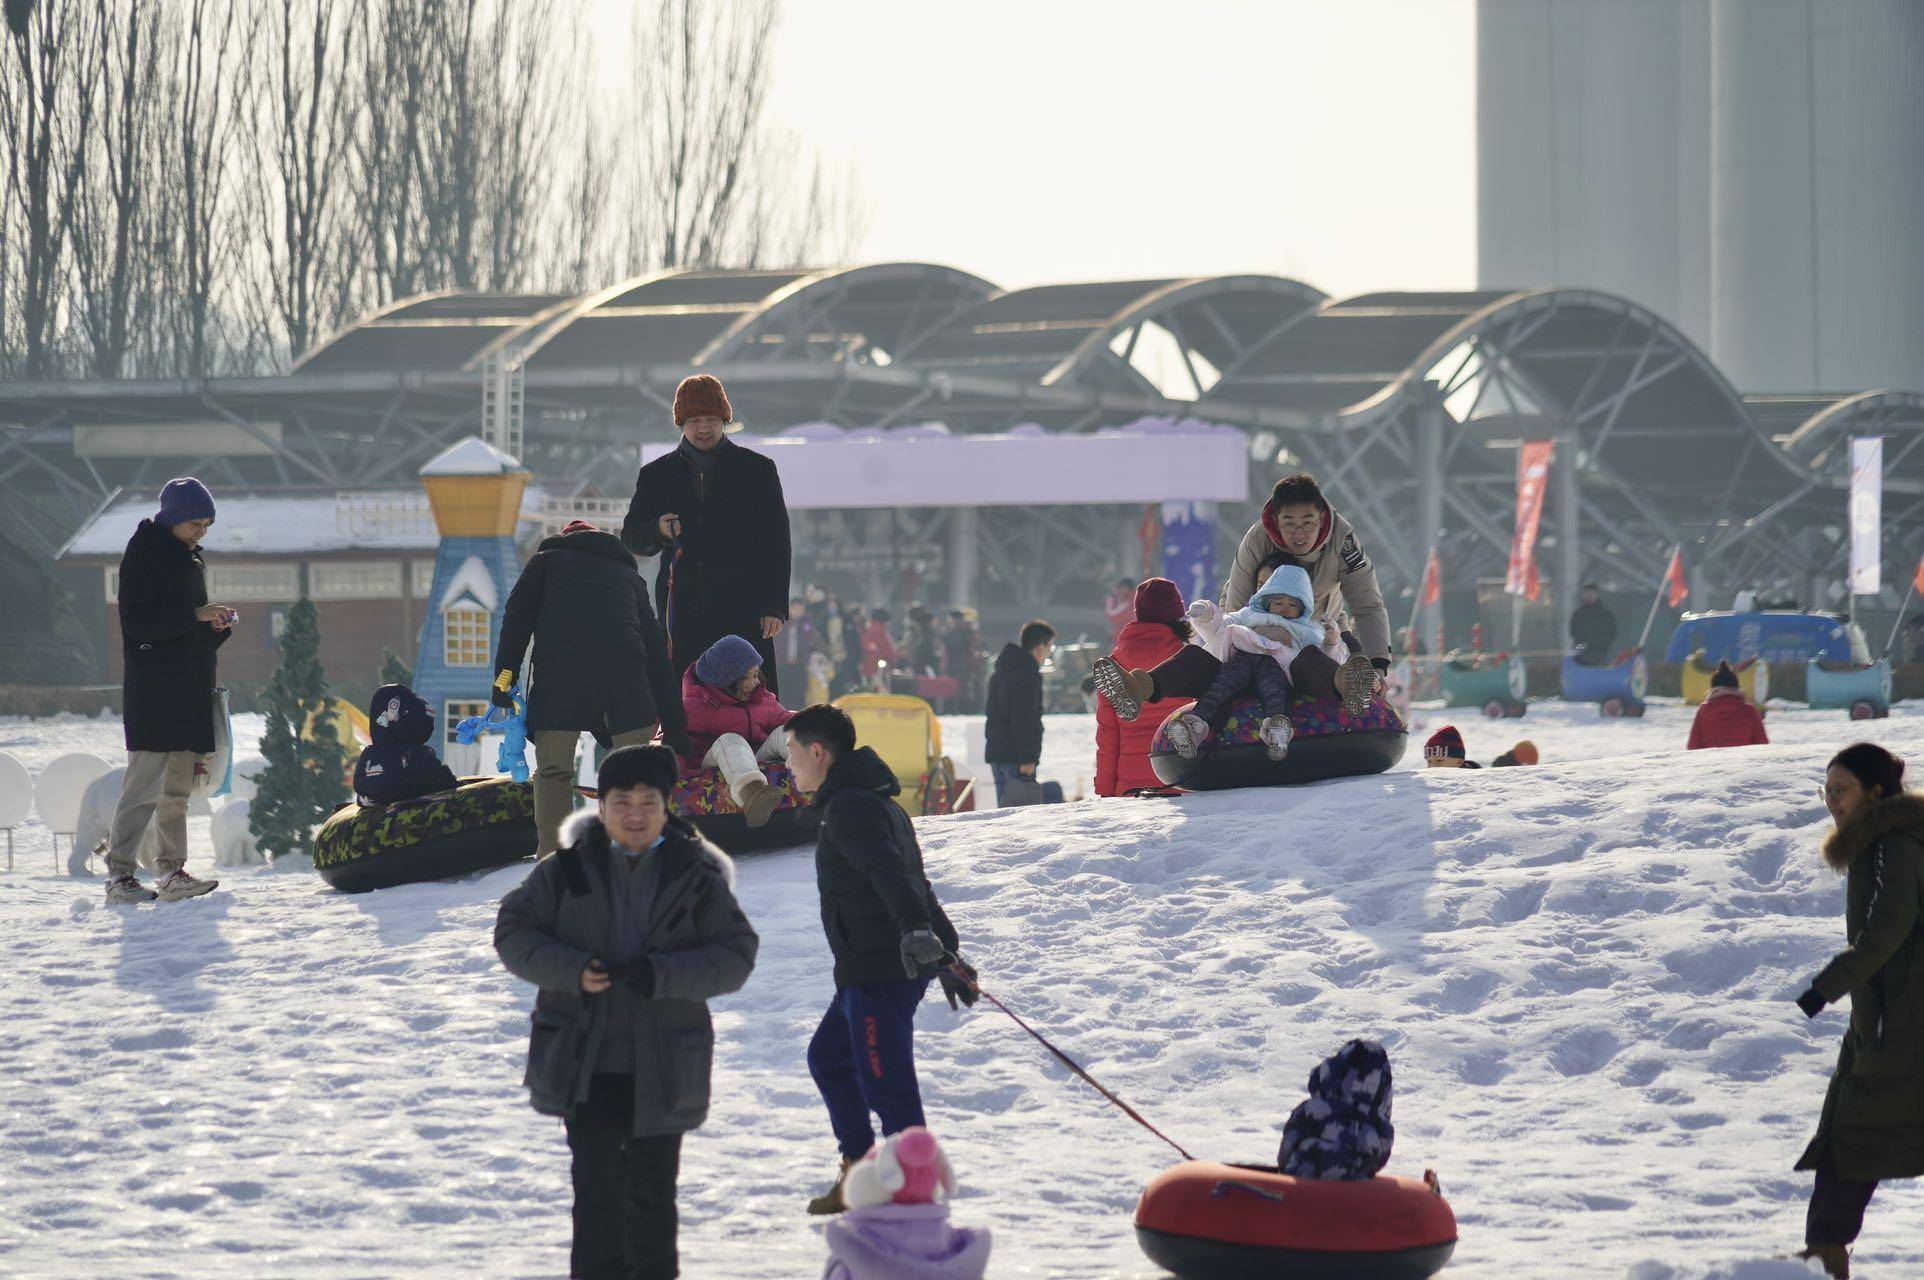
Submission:
<svg viewBox="0 0 1924 1280">
<path fill-rule="evenodd" d="M 1851 1274 L 1849 1245 L 1878 1184 L 1924 1176 L 1924 797 L 1903 781 L 1905 762 L 1870 743 L 1845 747 L 1824 772 L 1837 824 L 1824 862 L 1845 876 L 1849 945 L 1797 1007 L 1814 1018 L 1849 995 L 1851 1024 L 1797 1168 L 1816 1172 L 1803 1257 L 1832 1276 Z"/>
</svg>

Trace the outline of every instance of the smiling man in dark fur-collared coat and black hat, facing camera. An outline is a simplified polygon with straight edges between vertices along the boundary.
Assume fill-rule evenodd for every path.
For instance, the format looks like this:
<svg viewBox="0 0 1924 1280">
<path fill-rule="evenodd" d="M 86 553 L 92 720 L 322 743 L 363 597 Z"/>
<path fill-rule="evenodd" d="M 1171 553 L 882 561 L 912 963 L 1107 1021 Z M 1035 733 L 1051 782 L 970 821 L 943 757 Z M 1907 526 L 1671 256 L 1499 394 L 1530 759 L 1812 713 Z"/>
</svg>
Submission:
<svg viewBox="0 0 1924 1280">
<path fill-rule="evenodd" d="M 500 901 L 494 951 L 535 984 L 529 1101 L 568 1124 L 570 1276 L 677 1274 L 681 1136 L 708 1118 L 708 1001 L 739 991 L 760 939 L 735 864 L 668 812 L 668 747 L 602 760 L 598 812 Z"/>
</svg>

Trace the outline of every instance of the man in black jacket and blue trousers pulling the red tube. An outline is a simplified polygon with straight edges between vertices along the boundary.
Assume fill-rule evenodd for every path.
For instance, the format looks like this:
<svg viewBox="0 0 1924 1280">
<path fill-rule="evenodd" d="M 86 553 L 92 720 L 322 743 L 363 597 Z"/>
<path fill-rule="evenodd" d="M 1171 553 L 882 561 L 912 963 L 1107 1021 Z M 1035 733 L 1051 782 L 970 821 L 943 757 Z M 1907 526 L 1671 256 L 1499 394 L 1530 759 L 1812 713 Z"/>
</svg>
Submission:
<svg viewBox="0 0 1924 1280">
<path fill-rule="evenodd" d="M 956 1001 L 975 1003 L 975 970 L 958 955 L 954 926 L 922 866 L 916 828 L 893 799 L 902 787 L 881 756 L 856 747 L 848 712 L 806 706 L 787 730 L 795 785 L 822 810 L 816 889 L 835 955 L 835 1001 L 808 1043 L 808 1074 L 843 1155 L 835 1186 L 810 1201 L 808 1213 L 829 1215 L 847 1207 L 848 1166 L 875 1145 L 872 1111 L 883 1138 L 924 1124 L 914 1034 L 929 978 L 941 976 L 954 1009 Z"/>
</svg>

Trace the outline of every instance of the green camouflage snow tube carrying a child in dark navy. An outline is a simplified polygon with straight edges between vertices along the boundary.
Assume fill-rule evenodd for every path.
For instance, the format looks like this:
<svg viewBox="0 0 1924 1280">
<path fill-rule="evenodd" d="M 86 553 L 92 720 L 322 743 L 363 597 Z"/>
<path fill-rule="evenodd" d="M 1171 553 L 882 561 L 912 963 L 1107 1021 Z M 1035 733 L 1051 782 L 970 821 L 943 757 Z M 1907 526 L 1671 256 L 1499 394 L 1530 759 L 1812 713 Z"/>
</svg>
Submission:
<svg viewBox="0 0 1924 1280">
<path fill-rule="evenodd" d="M 535 787 L 479 778 L 398 805 L 342 805 L 314 837 L 314 870 L 342 893 L 450 880 L 535 855 Z"/>
</svg>

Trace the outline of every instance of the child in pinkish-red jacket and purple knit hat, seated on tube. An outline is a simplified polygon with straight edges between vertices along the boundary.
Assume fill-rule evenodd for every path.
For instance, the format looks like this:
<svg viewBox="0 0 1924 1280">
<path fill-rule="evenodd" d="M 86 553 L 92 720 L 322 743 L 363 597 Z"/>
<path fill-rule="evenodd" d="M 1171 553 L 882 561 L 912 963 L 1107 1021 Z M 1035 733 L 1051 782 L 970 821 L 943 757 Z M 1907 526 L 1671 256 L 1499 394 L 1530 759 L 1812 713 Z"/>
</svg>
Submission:
<svg viewBox="0 0 1924 1280">
<path fill-rule="evenodd" d="M 762 651 L 739 635 L 718 639 L 681 674 L 681 706 L 689 714 L 689 764 L 722 770 L 748 826 L 766 826 L 781 789 L 770 785 L 762 764 L 789 758 L 783 726 L 795 712 L 762 683 Z"/>
</svg>

